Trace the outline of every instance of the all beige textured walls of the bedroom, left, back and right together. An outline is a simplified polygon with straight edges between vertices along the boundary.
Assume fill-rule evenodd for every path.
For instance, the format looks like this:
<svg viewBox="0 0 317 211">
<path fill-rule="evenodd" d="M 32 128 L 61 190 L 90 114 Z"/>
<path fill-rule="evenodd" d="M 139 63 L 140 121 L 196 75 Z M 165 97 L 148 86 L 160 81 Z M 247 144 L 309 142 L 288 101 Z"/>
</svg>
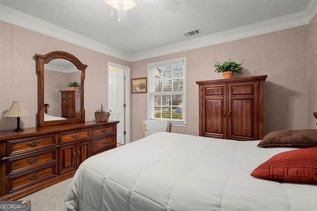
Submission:
<svg viewBox="0 0 317 211">
<path fill-rule="evenodd" d="M 22 127 L 36 126 L 37 73 L 34 54 L 66 51 L 87 64 L 85 80 L 86 120 L 94 119 L 100 104 L 107 105 L 106 62 L 131 67 L 131 78 L 147 77 L 147 64 L 187 57 L 187 127 L 172 132 L 198 135 L 198 85 L 196 81 L 219 79 L 213 64 L 231 58 L 244 59 L 244 75 L 268 75 L 264 87 L 264 133 L 279 129 L 316 128 L 317 18 L 302 27 L 236 40 L 218 45 L 128 62 L 94 52 L 6 22 L 0 22 L 0 130 L 13 129 L 16 120 L 3 117 L 12 101 L 19 100 L 31 113 Z M 131 95 L 131 141 L 142 137 L 140 121 L 147 118 L 147 94 Z"/>
</svg>

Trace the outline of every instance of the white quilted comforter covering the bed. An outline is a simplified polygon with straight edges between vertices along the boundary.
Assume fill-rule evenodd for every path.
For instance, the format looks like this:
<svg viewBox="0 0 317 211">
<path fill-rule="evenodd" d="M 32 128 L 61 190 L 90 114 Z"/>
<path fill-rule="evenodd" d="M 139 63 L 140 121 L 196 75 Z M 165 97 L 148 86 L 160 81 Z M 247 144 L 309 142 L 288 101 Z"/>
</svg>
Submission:
<svg viewBox="0 0 317 211">
<path fill-rule="evenodd" d="M 257 148 L 258 142 L 156 133 L 85 160 L 63 210 L 316 211 L 316 185 L 250 176 L 274 154 L 292 150 Z"/>
</svg>

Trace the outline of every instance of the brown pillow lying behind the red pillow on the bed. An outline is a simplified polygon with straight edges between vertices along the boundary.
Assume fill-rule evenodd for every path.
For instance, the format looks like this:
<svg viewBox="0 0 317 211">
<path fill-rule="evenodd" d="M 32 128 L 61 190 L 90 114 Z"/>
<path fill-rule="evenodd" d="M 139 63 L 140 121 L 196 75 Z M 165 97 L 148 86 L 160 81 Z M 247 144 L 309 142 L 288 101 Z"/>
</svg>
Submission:
<svg viewBox="0 0 317 211">
<path fill-rule="evenodd" d="M 317 130 L 278 130 L 268 133 L 258 147 L 317 147 Z"/>
</svg>

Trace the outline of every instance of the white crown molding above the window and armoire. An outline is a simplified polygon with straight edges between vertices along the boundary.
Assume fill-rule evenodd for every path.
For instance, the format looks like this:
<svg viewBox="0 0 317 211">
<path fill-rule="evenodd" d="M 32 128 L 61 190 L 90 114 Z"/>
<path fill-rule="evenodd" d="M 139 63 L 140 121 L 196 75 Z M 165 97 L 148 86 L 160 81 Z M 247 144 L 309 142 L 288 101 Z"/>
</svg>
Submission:
<svg viewBox="0 0 317 211">
<path fill-rule="evenodd" d="M 168 46 L 164 46 L 149 51 L 131 54 L 131 61 L 157 57 L 161 55 L 178 53 L 219 43 L 239 40 L 266 33 L 276 32 L 284 29 L 290 29 L 298 26 L 308 25 L 317 13 L 317 0 L 310 0 L 305 11 L 273 18 L 267 21 L 250 24 L 247 26 L 235 28 L 220 33 L 184 41 Z"/>
</svg>

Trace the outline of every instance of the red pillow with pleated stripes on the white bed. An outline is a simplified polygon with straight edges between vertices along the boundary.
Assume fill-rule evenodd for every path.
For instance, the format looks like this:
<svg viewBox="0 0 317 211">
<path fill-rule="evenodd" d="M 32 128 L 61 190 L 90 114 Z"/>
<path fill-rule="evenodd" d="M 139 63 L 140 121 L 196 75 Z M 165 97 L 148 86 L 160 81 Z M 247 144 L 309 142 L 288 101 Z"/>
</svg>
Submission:
<svg viewBox="0 0 317 211">
<path fill-rule="evenodd" d="M 279 153 L 251 175 L 273 181 L 317 183 L 317 147 Z"/>
</svg>

